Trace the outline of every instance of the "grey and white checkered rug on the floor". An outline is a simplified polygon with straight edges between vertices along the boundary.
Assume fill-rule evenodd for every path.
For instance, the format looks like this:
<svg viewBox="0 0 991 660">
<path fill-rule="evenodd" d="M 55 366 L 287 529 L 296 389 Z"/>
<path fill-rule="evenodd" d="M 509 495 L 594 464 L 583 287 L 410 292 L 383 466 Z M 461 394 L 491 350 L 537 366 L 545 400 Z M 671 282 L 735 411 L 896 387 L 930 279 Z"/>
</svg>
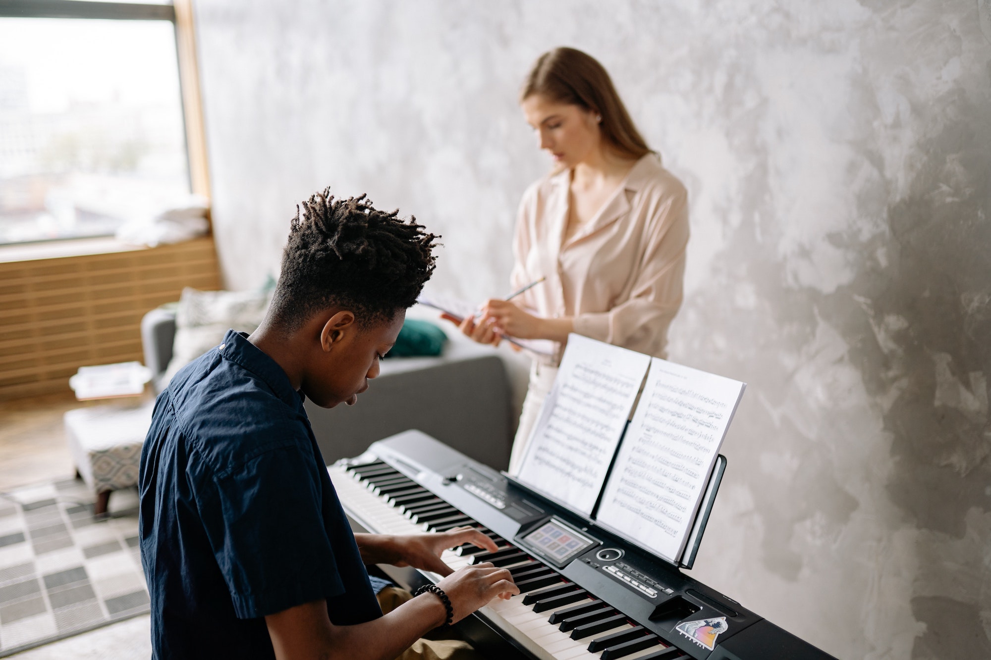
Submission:
<svg viewBox="0 0 991 660">
<path fill-rule="evenodd" d="M 149 611 L 138 549 L 138 495 L 110 517 L 67 480 L 0 494 L 0 657 Z"/>
</svg>

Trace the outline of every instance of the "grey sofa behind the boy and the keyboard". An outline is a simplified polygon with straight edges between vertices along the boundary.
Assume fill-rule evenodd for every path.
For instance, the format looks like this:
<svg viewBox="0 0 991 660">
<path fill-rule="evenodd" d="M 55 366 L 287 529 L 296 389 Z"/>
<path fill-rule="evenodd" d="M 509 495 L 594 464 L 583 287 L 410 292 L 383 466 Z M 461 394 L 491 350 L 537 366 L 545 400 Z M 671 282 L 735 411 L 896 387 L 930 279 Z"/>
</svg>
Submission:
<svg viewBox="0 0 991 660">
<path fill-rule="evenodd" d="M 155 309 L 141 324 L 145 365 L 161 379 L 172 356 L 175 314 Z M 496 470 L 509 463 L 512 406 L 505 366 L 484 346 L 449 341 L 436 358 L 385 358 L 357 405 L 306 401 L 324 460 L 358 456 L 370 444 L 419 429 Z"/>
</svg>

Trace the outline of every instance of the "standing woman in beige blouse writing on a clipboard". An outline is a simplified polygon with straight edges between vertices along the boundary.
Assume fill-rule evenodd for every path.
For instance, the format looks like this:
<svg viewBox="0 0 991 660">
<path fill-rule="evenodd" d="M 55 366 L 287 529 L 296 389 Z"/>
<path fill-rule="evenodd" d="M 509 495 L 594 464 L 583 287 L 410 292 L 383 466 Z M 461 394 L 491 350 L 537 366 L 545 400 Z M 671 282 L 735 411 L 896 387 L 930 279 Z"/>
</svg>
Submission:
<svg viewBox="0 0 991 660">
<path fill-rule="evenodd" d="M 511 286 L 546 279 L 511 301 L 492 299 L 461 330 L 557 342 L 534 359 L 512 446 L 520 463 L 571 332 L 660 358 L 682 302 L 688 194 L 633 125 L 606 69 L 568 48 L 540 55 L 520 93 L 526 122 L 554 158 L 519 205 Z"/>
</svg>

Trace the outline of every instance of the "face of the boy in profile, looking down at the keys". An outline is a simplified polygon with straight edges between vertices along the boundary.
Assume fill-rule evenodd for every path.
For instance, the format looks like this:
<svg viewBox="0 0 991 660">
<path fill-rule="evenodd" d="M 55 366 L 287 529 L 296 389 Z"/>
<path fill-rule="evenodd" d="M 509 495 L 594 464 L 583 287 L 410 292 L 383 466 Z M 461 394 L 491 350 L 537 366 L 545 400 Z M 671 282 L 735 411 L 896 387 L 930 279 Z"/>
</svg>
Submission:
<svg viewBox="0 0 991 660">
<path fill-rule="evenodd" d="M 303 393 L 324 408 L 342 402 L 354 405 L 358 394 L 368 389 L 369 379 L 379 376 L 379 360 L 395 344 L 405 318 L 406 310 L 400 309 L 391 320 L 368 325 L 352 320 L 337 326 L 333 341 L 323 341 L 307 365 Z"/>
</svg>

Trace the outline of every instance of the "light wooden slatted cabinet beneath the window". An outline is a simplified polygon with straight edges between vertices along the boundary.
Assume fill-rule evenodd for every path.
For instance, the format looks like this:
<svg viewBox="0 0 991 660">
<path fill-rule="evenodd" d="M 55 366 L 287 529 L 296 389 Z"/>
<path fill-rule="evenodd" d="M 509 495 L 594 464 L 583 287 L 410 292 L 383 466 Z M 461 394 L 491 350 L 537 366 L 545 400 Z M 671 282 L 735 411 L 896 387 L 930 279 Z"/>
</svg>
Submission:
<svg viewBox="0 0 991 660">
<path fill-rule="evenodd" d="M 0 399 L 66 390 L 85 365 L 142 359 L 141 319 L 185 286 L 220 288 L 213 238 L 0 262 Z"/>
</svg>

